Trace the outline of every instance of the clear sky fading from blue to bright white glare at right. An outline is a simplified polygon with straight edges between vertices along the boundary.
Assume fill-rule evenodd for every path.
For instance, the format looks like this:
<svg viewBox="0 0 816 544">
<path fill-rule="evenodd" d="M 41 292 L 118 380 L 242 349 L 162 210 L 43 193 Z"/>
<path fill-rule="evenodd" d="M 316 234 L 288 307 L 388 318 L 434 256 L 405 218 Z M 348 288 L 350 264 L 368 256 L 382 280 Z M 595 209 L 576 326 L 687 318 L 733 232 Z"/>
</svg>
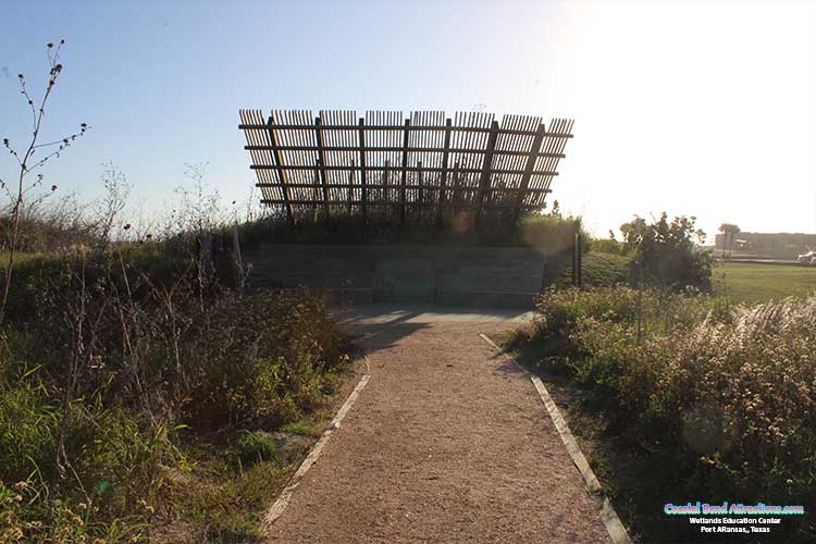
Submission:
<svg viewBox="0 0 816 544">
<path fill-rule="evenodd" d="M 92 126 L 44 173 L 101 193 L 113 161 L 149 210 L 185 162 L 224 200 L 255 183 L 239 108 L 472 110 L 576 119 L 554 198 L 599 234 L 632 214 L 816 232 L 815 2 L 15 2 L 0 136 L 28 132 L 23 72 L 65 38 L 46 136 Z M 0 176 L 14 163 L 0 156 Z"/>
</svg>

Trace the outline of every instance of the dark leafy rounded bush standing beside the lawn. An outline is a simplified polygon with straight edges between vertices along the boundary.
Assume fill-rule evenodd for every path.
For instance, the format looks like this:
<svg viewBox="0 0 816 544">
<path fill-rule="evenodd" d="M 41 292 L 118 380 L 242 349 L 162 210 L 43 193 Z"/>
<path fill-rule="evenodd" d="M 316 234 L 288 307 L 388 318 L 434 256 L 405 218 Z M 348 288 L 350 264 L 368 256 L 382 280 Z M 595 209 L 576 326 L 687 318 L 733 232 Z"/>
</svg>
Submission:
<svg viewBox="0 0 816 544">
<path fill-rule="evenodd" d="M 710 290 L 712 255 L 698 247 L 705 233 L 694 227 L 695 221 L 681 215 L 669 223 L 664 212 L 651 224 L 635 218 L 621 225 L 623 242 L 635 255 L 633 275 L 659 287 Z"/>
</svg>

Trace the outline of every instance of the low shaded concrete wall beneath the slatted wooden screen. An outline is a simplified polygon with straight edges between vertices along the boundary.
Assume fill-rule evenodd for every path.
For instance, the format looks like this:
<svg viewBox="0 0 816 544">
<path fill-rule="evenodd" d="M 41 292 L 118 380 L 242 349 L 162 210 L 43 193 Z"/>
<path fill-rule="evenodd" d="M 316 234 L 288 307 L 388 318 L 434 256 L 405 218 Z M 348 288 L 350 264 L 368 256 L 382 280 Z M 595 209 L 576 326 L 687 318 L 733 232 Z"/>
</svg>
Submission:
<svg viewBox="0 0 816 544">
<path fill-rule="evenodd" d="M 543 248 L 269 244 L 244 255 L 249 288 L 307 285 L 335 299 L 531 308 L 553 259 Z"/>
</svg>

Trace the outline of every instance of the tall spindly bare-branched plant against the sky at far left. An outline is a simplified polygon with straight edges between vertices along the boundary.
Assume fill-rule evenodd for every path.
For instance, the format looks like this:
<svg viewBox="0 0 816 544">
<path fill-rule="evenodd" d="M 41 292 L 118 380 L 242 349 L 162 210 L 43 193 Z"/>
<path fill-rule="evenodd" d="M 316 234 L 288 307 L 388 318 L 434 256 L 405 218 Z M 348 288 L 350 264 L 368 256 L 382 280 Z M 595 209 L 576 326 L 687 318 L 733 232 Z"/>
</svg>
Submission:
<svg viewBox="0 0 816 544">
<path fill-rule="evenodd" d="M 32 110 L 32 136 L 24 148 L 16 148 L 12 145 L 12 141 L 9 138 L 3 138 L 3 147 L 5 147 L 9 153 L 16 160 L 17 165 L 20 166 L 20 172 L 13 189 L 10 188 L 4 181 L 0 180 L 0 187 L 5 190 L 11 202 L 9 262 L 5 265 L 5 282 L 3 285 L 2 300 L 0 301 L 0 323 L 2 323 L 3 314 L 5 312 L 5 304 L 9 299 L 11 276 L 14 271 L 14 254 L 17 249 L 17 243 L 20 242 L 20 218 L 23 212 L 23 205 L 27 194 L 42 185 L 41 173 L 37 174 L 34 182 L 28 182 L 29 175 L 48 162 L 48 160 L 59 157 L 65 148 L 71 146 L 78 136 L 84 136 L 85 132 L 88 129 L 88 124 L 82 123 L 78 132 L 65 136 L 64 138 L 47 143 L 39 141 L 48 99 L 51 97 L 54 85 L 57 85 L 57 79 L 60 74 L 62 74 L 63 65 L 60 63 L 60 51 L 64 44 L 65 40 L 62 39 L 57 47 L 54 47 L 53 44 L 48 44 L 46 46 L 48 51 L 49 75 L 46 90 L 42 92 L 42 98 L 39 101 L 35 102 L 34 98 L 32 98 L 32 94 L 26 86 L 25 76 L 23 74 L 17 75 L 17 79 L 20 81 L 20 94 L 23 95 Z M 23 151 L 23 149 L 25 149 L 25 151 Z M 37 154 L 38 152 L 45 152 L 46 154 L 40 159 L 40 154 Z M 37 154 L 37 157 L 35 157 L 35 154 Z M 57 190 L 57 186 L 52 185 L 51 191 L 54 190 Z"/>
</svg>

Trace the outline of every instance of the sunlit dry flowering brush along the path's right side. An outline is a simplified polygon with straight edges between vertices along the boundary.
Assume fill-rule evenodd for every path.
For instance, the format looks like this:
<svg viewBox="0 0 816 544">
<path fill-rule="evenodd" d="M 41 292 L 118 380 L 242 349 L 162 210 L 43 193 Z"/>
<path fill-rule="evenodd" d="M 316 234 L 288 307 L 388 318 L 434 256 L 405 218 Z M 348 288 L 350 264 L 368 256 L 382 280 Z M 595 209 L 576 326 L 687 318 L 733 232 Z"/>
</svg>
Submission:
<svg viewBox="0 0 816 544">
<path fill-rule="evenodd" d="M 618 287 L 548 292 L 536 308 L 539 357 L 594 392 L 610 429 L 670 459 L 651 482 L 663 495 L 816 504 L 816 298 L 725 309 Z"/>
</svg>

